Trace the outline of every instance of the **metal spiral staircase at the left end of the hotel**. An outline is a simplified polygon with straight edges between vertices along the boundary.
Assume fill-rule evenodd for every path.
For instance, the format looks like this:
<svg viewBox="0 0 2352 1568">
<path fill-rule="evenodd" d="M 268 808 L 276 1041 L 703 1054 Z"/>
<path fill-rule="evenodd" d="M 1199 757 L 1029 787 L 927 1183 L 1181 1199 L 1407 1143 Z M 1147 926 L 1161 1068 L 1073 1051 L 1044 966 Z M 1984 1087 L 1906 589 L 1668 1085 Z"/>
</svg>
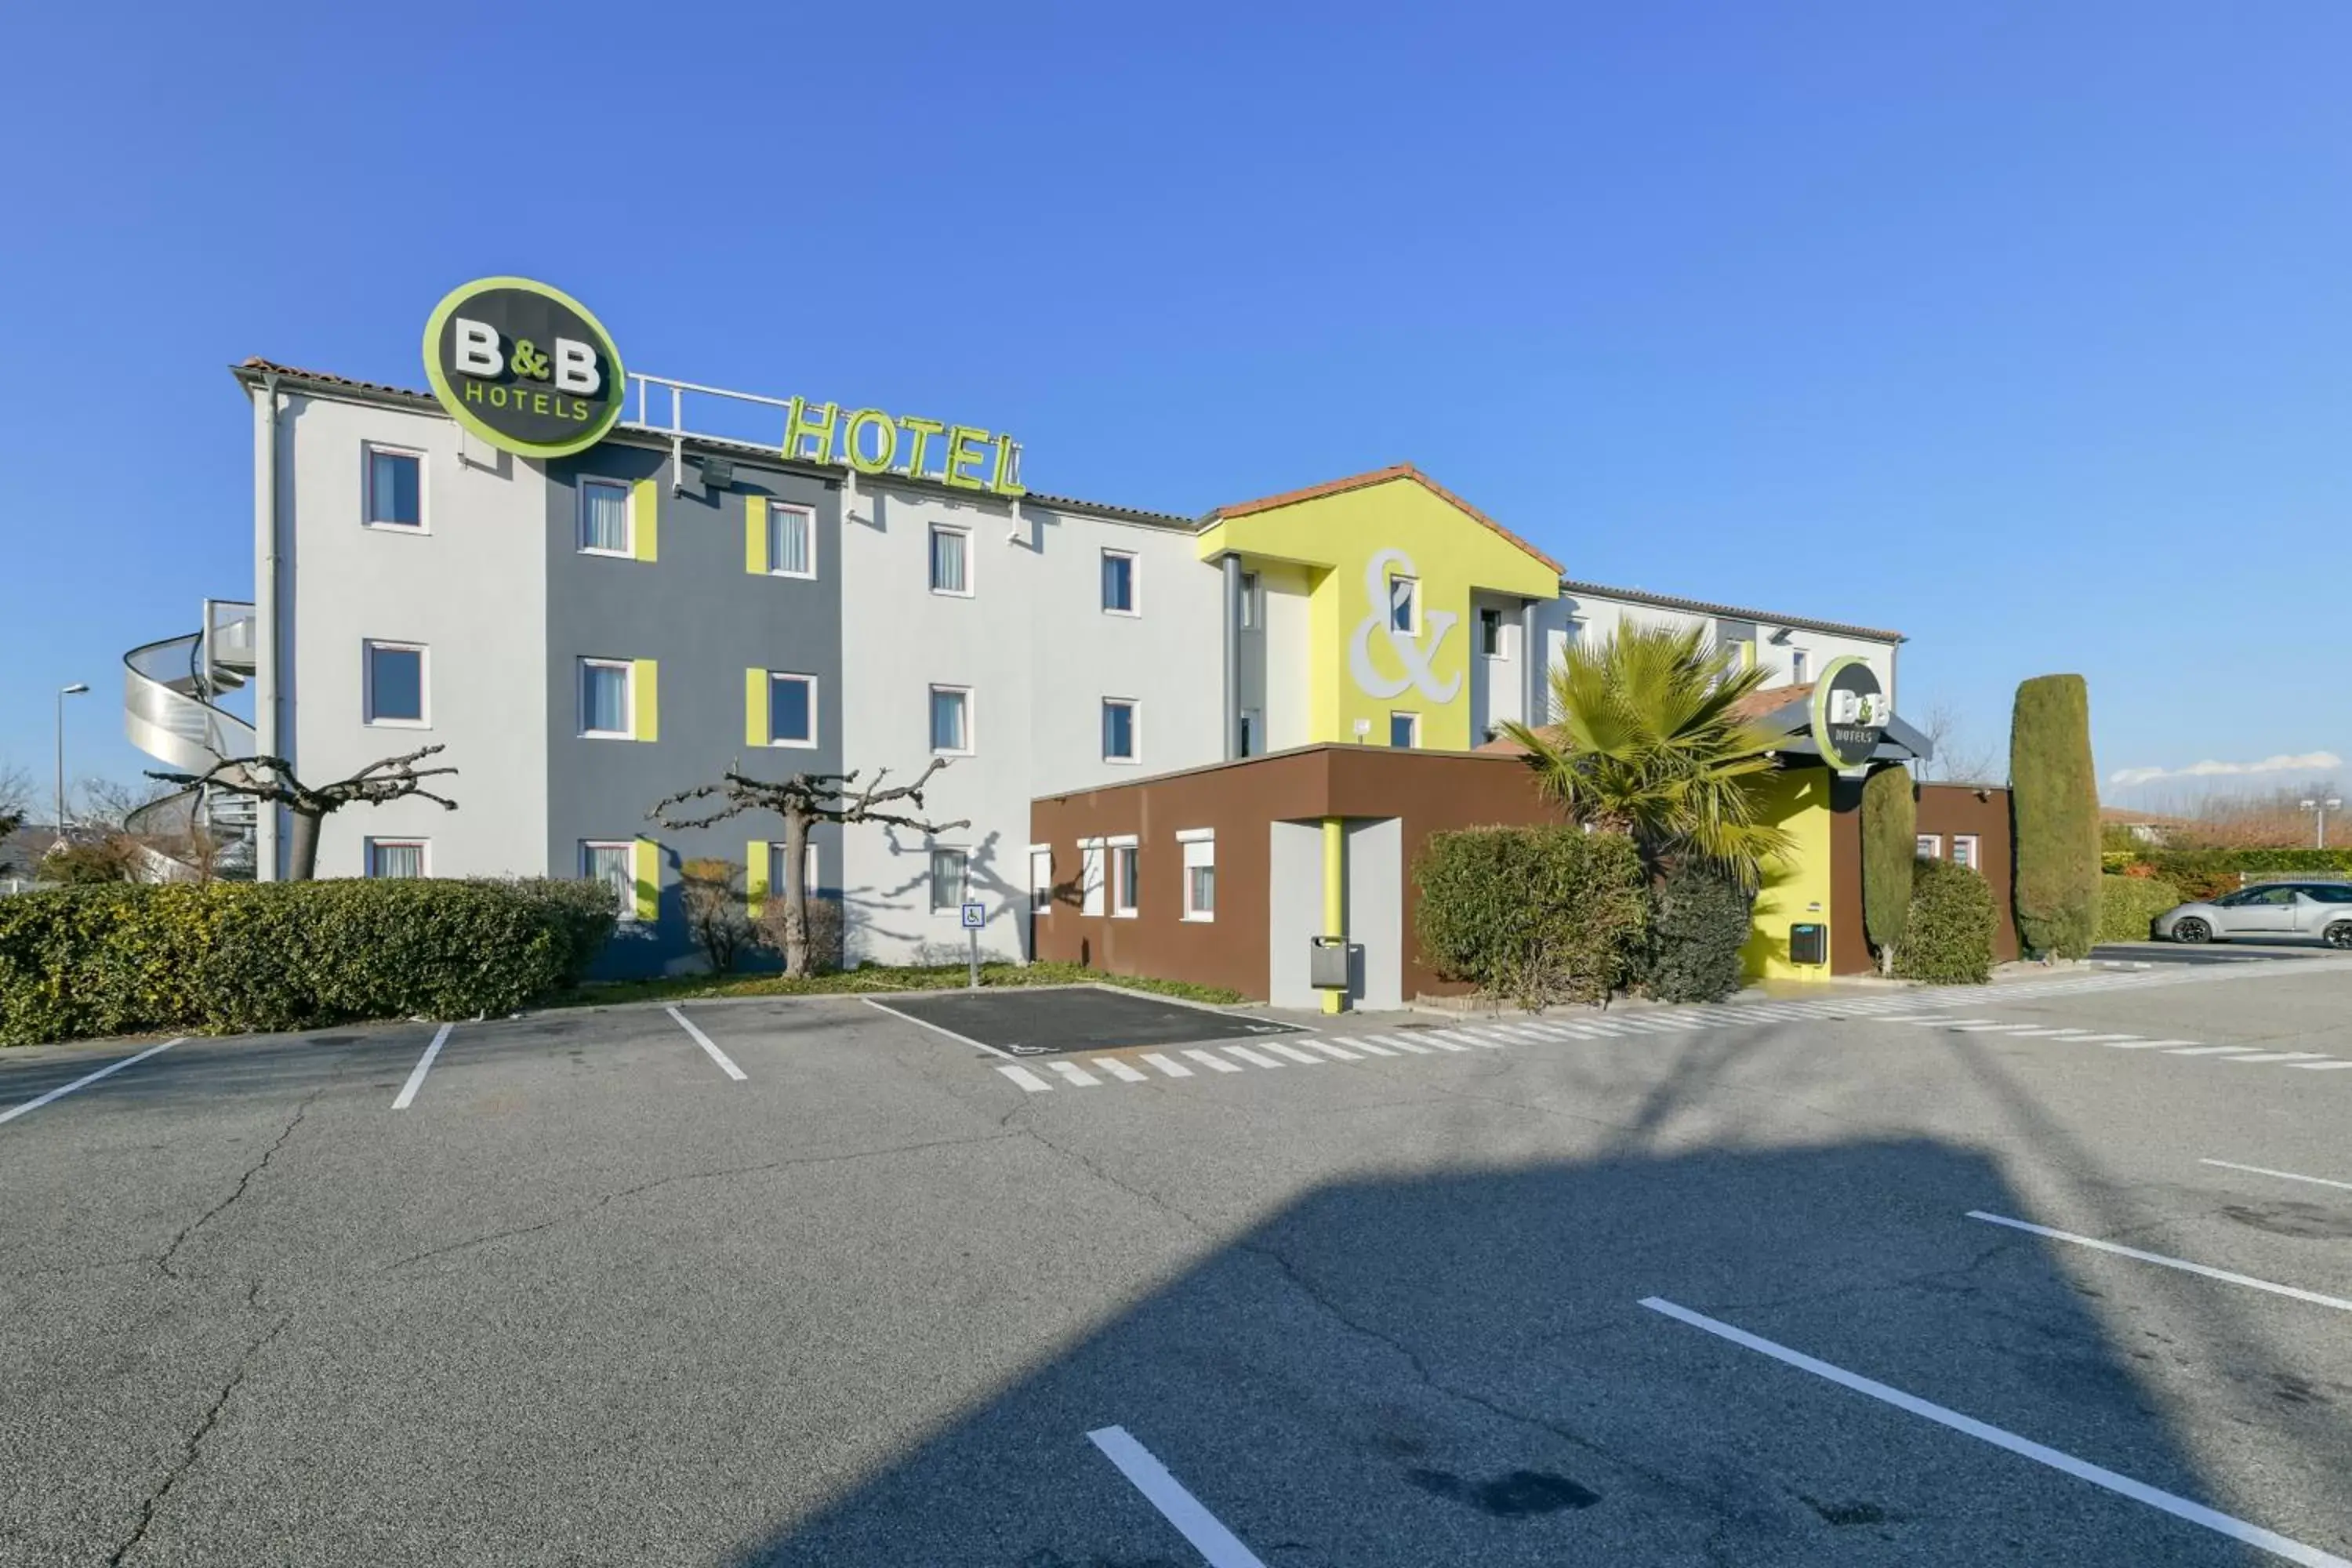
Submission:
<svg viewBox="0 0 2352 1568">
<path fill-rule="evenodd" d="M 176 773 L 205 773 L 254 755 L 254 726 L 219 705 L 254 677 L 254 607 L 205 599 L 202 625 L 122 656 L 122 733 Z M 252 877 L 254 802 L 219 788 L 167 795 L 125 823 L 146 846 L 158 882 L 200 875 L 202 842 L 216 846 L 214 875 Z"/>
</svg>

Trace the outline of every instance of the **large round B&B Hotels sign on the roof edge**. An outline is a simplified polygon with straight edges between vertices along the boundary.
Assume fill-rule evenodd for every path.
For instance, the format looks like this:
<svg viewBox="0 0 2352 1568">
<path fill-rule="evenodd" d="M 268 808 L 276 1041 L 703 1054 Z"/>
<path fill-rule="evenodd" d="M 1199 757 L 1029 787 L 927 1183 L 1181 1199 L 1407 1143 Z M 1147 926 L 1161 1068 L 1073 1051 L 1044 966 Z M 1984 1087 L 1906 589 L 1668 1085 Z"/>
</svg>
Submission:
<svg viewBox="0 0 2352 1568">
<path fill-rule="evenodd" d="M 529 277 L 452 289 L 426 322 L 426 376 L 456 423 L 527 458 L 595 447 L 628 393 L 604 324 Z"/>
</svg>

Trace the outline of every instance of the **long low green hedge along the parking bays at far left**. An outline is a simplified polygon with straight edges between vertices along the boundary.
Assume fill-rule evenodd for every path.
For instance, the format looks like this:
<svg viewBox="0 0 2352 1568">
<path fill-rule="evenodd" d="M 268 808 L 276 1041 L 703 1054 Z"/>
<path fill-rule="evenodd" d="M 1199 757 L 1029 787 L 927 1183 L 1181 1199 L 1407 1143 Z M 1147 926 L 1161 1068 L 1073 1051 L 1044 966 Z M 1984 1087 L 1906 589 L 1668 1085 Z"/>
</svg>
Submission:
<svg viewBox="0 0 2352 1568">
<path fill-rule="evenodd" d="M 475 1018 L 579 983 L 612 893 L 562 882 L 214 882 L 0 898 L 0 1044 Z"/>
</svg>

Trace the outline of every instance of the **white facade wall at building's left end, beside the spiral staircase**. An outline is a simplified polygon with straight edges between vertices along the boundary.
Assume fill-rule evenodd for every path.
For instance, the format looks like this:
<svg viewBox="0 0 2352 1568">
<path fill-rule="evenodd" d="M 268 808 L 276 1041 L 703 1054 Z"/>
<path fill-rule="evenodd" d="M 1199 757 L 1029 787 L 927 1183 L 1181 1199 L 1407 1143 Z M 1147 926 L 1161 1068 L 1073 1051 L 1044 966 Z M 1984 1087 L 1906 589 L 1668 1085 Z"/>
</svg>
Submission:
<svg viewBox="0 0 2352 1568">
<path fill-rule="evenodd" d="M 423 529 L 362 524 L 369 442 L 423 454 Z M 433 877 L 543 875 L 546 475 L 437 414 L 285 395 L 278 515 L 280 710 L 296 773 L 327 783 L 423 745 L 447 750 L 419 766 L 459 769 L 435 783 L 456 811 L 405 799 L 329 816 L 318 875 L 362 875 L 369 837 L 426 839 Z M 423 726 L 367 724 L 367 639 L 426 646 Z"/>
</svg>

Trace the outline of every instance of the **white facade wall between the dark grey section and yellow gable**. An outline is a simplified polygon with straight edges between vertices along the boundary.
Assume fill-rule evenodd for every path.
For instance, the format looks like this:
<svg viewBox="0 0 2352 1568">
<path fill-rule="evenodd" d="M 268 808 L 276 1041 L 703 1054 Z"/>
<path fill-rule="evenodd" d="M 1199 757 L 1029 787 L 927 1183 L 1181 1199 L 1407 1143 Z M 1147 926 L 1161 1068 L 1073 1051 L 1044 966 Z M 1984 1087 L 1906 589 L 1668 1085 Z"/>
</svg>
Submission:
<svg viewBox="0 0 2352 1568">
<path fill-rule="evenodd" d="M 931 529 L 967 529 L 969 597 L 931 592 Z M 1101 607 L 1101 552 L 1136 555 L 1138 614 Z M 1223 578 L 1190 534 L 1035 503 L 950 501 L 863 487 L 842 529 L 842 748 L 866 778 L 931 759 L 931 686 L 969 696 L 969 757 L 924 797 L 929 820 L 969 818 L 938 846 L 971 856 L 988 905 L 981 952 L 1018 957 L 1028 929 L 1035 795 L 1164 773 L 1223 755 Z M 1103 759 L 1105 696 L 1138 703 L 1141 757 Z M 967 952 L 955 912 L 931 912 L 931 842 L 851 827 L 842 898 L 849 954 L 901 964 Z"/>
</svg>

